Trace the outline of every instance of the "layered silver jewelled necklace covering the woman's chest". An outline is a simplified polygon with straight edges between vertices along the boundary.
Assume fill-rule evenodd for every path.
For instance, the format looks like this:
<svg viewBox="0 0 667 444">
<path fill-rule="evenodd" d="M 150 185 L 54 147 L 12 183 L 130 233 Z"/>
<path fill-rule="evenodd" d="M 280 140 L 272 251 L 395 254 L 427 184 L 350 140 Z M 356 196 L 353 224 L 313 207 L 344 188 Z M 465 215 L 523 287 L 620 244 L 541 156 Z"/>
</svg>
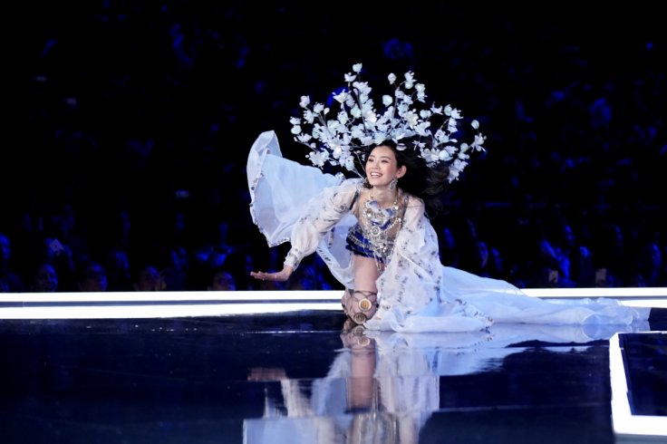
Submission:
<svg viewBox="0 0 667 444">
<path fill-rule="evenodd" d="M 386 262 L 391 254 L 393 239 L 391 231 L 394 227 L 401 224 L 399 192 L 396 188 L 396 196 L 390 208 L 381 208 L 377 200 L 372 197 L 372 189 L 368 200 L 363 204 L 363 217 L 366 219 L 364 233 L 371 246 L 373 254 Z M 378 267 L 381 265 L 378 264 Z"/>
</svg>

